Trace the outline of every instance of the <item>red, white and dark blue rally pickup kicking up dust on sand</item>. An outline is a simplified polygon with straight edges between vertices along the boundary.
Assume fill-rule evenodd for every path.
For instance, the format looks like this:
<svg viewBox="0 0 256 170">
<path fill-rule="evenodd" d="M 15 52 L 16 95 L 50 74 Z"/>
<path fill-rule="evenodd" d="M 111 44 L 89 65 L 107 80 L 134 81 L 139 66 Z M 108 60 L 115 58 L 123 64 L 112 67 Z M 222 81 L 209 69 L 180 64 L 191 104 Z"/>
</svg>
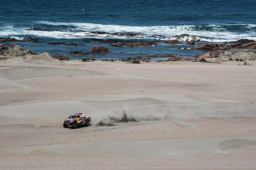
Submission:
<svg viewBox="0 0 256 170">
<path fill-rule="evenodd" d="M 74 115 L 70 115 L 68 119 L 66 119 L 63 122 L 63 127 L 67 128 L 68 126 L 72 126 L 73 128 L 76 128 L 79 124 L 85 124 L 86 126 L 90 126 L 91 117 L 90 116 L 84 116 L 82 113 L 77 113 Z"/>
</svg>

